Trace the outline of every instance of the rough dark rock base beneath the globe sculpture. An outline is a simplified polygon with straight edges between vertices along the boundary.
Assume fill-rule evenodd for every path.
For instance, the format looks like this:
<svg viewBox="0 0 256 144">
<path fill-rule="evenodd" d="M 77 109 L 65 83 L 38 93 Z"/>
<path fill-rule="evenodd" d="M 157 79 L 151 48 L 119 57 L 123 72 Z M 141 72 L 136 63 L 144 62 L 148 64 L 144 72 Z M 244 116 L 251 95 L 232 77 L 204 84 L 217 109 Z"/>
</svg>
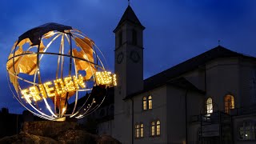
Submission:
<svg viewBox="0 0 256 144">
<path fill-rule="evenodd" d="M 90 143 L 119 144 L 116 139 L 87 133 L 76 122 L 24 122 L 22 132 L 0 139 L 1 143 Z"/>
</svg>

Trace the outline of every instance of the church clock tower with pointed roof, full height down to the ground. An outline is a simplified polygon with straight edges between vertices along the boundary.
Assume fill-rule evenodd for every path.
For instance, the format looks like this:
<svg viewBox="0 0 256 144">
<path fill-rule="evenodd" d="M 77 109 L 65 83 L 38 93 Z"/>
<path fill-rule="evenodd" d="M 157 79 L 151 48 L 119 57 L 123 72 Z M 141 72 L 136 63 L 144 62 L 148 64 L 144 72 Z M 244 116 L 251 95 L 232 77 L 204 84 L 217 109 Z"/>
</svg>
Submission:
<svg viewBox="0 0 256 144">
<path fill-rule="evenodd" d="M 118 86 L 114 90 L 114 138 L 132 143 L 132 103 L 123 98 L 143 90 L 143 30 L 134 10 L 126 8 L 114 29 L 114 73 Z"/>
</svg>

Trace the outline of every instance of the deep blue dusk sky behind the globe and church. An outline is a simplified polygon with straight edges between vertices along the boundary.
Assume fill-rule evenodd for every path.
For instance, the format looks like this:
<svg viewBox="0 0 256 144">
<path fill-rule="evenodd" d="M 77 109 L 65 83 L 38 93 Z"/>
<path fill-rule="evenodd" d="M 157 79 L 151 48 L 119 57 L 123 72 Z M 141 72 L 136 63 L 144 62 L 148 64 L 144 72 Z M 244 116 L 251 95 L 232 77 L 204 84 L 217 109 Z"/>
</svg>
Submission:
<svg viewBox="0 0 256 144">
<path fill-rule="evenodd" d="M 22 113 L 7 85 L 6 60 L 18 36 L 46 22 L 81 30 L 114 71 L 114 33 L 127 0 L 1 0 L 0 108 Z M 220 45 L 256 57 L 254 0 L 130 0 L 144 30 L 144 78 Z"/>
</svg>

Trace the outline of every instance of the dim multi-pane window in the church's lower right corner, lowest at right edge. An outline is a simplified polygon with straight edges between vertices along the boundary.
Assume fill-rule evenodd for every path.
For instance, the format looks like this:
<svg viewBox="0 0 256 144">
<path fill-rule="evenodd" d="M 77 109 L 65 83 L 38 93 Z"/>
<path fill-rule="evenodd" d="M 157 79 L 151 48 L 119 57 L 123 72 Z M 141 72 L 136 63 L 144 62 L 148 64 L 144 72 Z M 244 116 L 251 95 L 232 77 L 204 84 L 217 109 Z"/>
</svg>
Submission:
<svg viewBox="0 0 256 144">
<path fill-rule="evenodd" d="M 256 125 L 255 122 L 242 122 L 238 128 L 238 137 L 240 140 L 256 140 Z"/>
</svg>

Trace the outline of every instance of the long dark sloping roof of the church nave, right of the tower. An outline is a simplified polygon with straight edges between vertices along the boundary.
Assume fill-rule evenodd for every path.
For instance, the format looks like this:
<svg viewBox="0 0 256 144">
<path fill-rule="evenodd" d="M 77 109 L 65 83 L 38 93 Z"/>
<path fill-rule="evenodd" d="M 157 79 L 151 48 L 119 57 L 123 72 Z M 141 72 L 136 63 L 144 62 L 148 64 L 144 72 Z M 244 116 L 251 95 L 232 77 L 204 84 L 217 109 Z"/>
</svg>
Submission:
<svg viewBox="0 0 256 144">
<path fill-rule="evenodd" d="M 150 78 L 144 79 L 143 90 L 138 91 L 137 93 L 134 93 L 134 94 L 140 94 L 142 92 L 145 92 L 146 90 L 152 90 L 158 86 L 162 86 L 166 82 L 170 82 L 171 79 L 178 78 L 178 76 L 182 76 L 182 74 L 185 74 L 190 70 L 194 70 L 198 66 L 202 66 L 206 64 L 206 62 L 210 62 L 215 58 L 231 58 L 231 57 L 253 58 L 254 60 L 256 60 L 256 58 L 254 57 L 248 57 L 244 54 L 240 54 L 238 52 L 229 50 L 223 46 L 217 46 L 193 58 L 190 58 L 184 62 L 181 62 L 175 66 L 172 66 L 167 70 L 163 70 L 158 74 L 154 74 Z M 126 98 L 124 99 L 131 98 L 134 96 L 134 94 L 130 94 L 126 96 Z"/>
</svg>

